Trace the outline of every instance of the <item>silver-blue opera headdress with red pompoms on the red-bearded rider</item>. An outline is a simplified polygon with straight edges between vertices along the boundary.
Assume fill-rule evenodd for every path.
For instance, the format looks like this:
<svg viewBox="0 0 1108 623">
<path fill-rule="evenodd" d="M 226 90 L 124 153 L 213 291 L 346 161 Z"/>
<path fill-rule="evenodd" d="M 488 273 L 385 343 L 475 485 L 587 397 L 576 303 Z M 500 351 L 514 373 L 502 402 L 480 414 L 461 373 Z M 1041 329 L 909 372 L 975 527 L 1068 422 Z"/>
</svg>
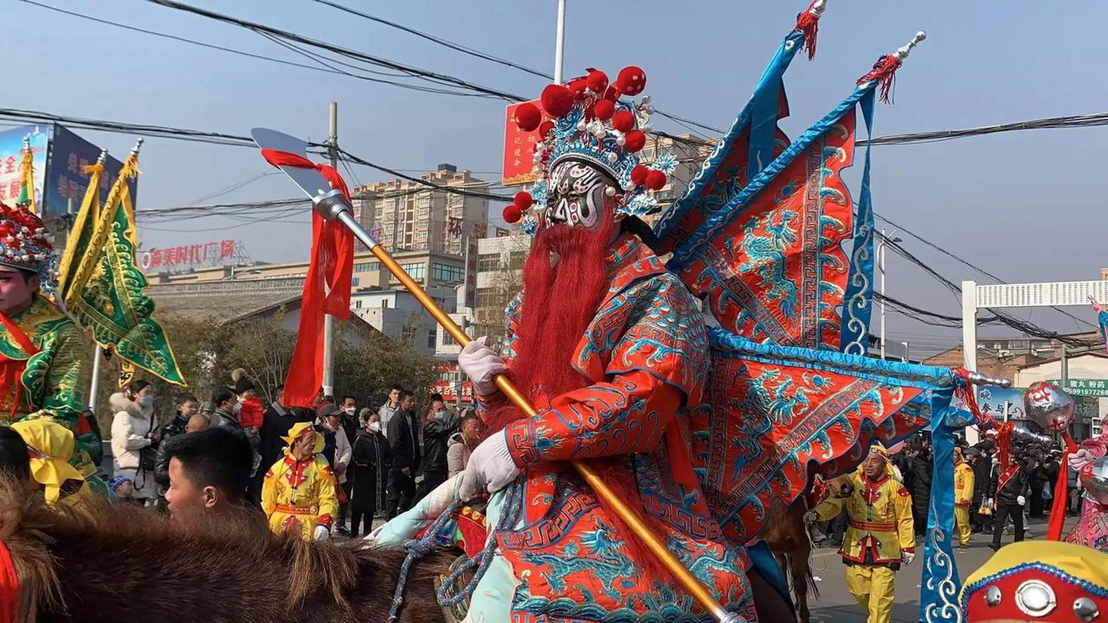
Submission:
<svg viewBox="0 0 1108 623">
<path fill-rule="evenodd" d="M 524 229 L 534 228 L 535 218 L 524 218 L 524 213 L 532 206 L 545 208 L 550 173 L 565 161 L 587 163 L 611 176 L 619 188 L 609 186 L 606 194 L 616 198 L 617 213 L 644 215 L 657 210 L 657 202 L 647 191 L 666 185 L 676 160 L 673 154 L 664 154 L 650 165 L 640 162 L 639 152 L 646 145 L 654 109 L 649 106 L 649 98 L 638 102 L 620 99 L 642 93 L 646 73 L 638 67 L 626 67 L 608 84 L 603 71 L 587 71 L 588 74 L 566 84 L 543 89 L 542 110 L 531 102 L 515 109 L 514 121 L 520 130 L 538 131 L 533 156 L 538 181 L 530 192 L 517 193 L 514 203 L 504 210 L 507 223 L 524 219 Z"/>
</svg>

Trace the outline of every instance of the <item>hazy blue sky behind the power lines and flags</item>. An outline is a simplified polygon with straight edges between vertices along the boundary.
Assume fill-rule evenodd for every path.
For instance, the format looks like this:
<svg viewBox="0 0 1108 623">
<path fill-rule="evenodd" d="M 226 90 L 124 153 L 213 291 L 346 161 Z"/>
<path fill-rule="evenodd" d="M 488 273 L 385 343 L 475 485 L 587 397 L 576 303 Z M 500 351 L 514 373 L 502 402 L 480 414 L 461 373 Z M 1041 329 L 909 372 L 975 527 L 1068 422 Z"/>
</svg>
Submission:
<svg viewBox="0 0 1108 623">
<path fill-rule="evenodd" d="M 304 60 L 247 30 L 140 0 L 44 1 L 211 43 Z M 554 0 L 346 2 L 529 67 L 553 65 Z M 195 3 L 510 92 L 537 95 L 544 85 L 542 79 L 311 0 Z M 9 59 L 6 102 L 11 108 L 235 134 L 266 125 L 321 140 L 327 134 L 327 105 L 335 100 L 341 145 L 368 160 L 404 170 L 451 162 L 493 172 L 500 164 L 504 114 L 500 101 L 400 90 L 129 32 L 17 0 L 3 4 L 8 23 L 27 24 L 19 29 L 22 37 L 0 40 L 0 53 Z M 570 0 L 566 74 L 585 67 L 614 74 L 625 64 L 639 64 L 647 72 L 647 93 L 659 109 L 727 126 L 804 6 L 804 0 Z M 792 116 L 783 127 L 797 135 L 845 95 L 880 54 L 920 29 L 929 39 L 899 73 L 895 105 L 878 110 L 878 135 L 1100 112 L 1108 108 L 1104 80 L 1108 53 L 1086 25 L 1106 21 L 1108 3 L 1091 0 L 830 0 L 815 61 L 798 58 L 787 74 Z M 660 120 L 657 125 L 681 131 Z M 876 147 L 874 206 L 879 214 L 1009 282 L 1098 278 L 1099 268 L 1108 264 L 1101 252 L 1108 229 L 1106 132 L 1102 127 L 1030 131 Z M 125 153 L 133 142 L 119 134 L 80 133 L 114 154 Z M 142 170 L 140 211 L 188 204 L 267 167 L 252 150 L 152 139 L 143 150 Z M 363 168 L 356 173 L 360 182 L 381 178 Z M 287 196 L 293 196 L 288 183 L 270 175 L 218 201 Z M 143 227 L 140 221 L 140 228 L 146 246 L 237 237 L 256 259 L 287 261 L 306 257 L 306 223 L 307 215 L 249 225 L 206 218 L 162 223 L 157 229 Z M 920 243 L 906 244 L 954 280 L 973 277 Z M 891 257 L 889 270 L 890 295 L 957 313 L 955 298 L 919 269 Z M 1092 319 L 1091 312 L 1073 312 Z M 1028 317 L 1026 312 L 1020 315 Z M 1059 330 L 1077 328 L 1053 312 L 1038 310 L 1030 317 Z M 893 338 L 921 347 L 951 344 L 956 337 L 955 331 L 896 315 L 889 321 Z"/>
</svg>

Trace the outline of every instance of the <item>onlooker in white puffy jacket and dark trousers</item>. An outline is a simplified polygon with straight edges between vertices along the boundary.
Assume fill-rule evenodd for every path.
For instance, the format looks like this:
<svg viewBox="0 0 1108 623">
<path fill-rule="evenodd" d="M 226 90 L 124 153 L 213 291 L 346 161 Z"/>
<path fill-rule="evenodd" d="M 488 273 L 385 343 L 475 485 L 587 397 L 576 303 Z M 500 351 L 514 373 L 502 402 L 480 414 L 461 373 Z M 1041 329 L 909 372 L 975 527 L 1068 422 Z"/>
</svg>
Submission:
<svg viewBox="0 0 1108 623">
<path fill-rule="evenodd" d="M 154 415 L 154 388 L 145 380 L 133 380 L 107 400 L 112 419 L 112 462 L 116 477 L 134 483 L 134 498 L 143 503 L 156 499 L 154 452 L 162 433 Z"/>
</svg>

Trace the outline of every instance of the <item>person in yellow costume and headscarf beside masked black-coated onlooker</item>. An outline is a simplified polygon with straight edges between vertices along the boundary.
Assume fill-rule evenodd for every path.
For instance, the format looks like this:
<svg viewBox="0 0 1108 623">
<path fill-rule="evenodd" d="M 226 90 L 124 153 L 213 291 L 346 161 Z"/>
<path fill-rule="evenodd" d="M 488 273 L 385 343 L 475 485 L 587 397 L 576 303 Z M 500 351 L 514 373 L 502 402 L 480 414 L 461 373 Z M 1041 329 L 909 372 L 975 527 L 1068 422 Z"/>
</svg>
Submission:
<svg viewBox="0 0 1108 623">
<path fill-rule="evenodd" d="M 261 486 L 261 510 L 276 533 L 299 530 L 305 539 L 326 541 L 338 510 L 335 472 L 321 452 L 324 436 L 310 422 L 288 430 L 285 456 L 266 473 Z"/>
</svg>

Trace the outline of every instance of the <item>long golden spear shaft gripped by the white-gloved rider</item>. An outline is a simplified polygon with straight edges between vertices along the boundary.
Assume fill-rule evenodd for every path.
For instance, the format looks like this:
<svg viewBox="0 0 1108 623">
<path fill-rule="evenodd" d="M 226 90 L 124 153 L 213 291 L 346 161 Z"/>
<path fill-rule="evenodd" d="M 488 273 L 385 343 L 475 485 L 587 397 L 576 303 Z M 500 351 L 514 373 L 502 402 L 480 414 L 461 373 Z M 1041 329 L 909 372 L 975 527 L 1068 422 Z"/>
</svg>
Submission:
<svg viewBox="0 0 1108 623">
<path fill-rule="evenodd" d="M 412 279 L 403 268 L 400 267 L 399 264 L 397 264 L 397 261 L 389 255 L 389 252 L 378 244 L 378 242 L 369 235 L 369 232 L 361 226 L 361 223 L 353 217 L 353 214 L 350 211 L 349 202 L 339 191 L 331 191 L 325 195 L 315 197 L 312 203 L 315 204 L 316 211 L 325 218 L 342 223 L 342 225 L 353 233 L 355 237 L 369 247 L 369 251 L 381 263 L 381 266 L 389 269 L 389 273 L 391 273 L 392 276 L 396 277 L 397 280 L 399 280 L 400 284 L 416 297 L 416 300 L 418 300 L 420 305 L 422 305 L 423 308 L 431 314 L 431 317 L 433 317 L 437 323 L 442 325 L 442 328 L 445 329 L 447 333 L 449 333 L 450 336 L 458 341 L 458 344 L 464 347 L 470 343 L 470 336 L 465 335 L 465 331 L 463 331 L 462 328 L 459 327 L 458 324 L 454 323 L 454 320 L 445 312 L 443 312 L 441 307 L 439 307 L 439 304 L 437 304 L 434 299 L 431 298 L 427 292 L 424 292 L 423 288 L 416 283 L 416 280 Z M 513 405 L 519 407 L 520 410 L 529 417 L 537 413 L 535 408 L 531 406 L 527 398 L 523 396 L 523 394 L 521 394 L 514 385 L 512 385 L 512 381 L 509 380 L 506 376 L 497 375 L 494 380 L 496 382 L 496 387 L 504 392 L 504 396 L 506 396 Z M 603 480 L 601 480 L 601 477 L 597 476 L 596 471 L 594 471 L 588 463 L 577 460 L 571 461 L 570 464 L 577 470 L 577 473 L 585 479 L 585 482 L 587 482 L 589 487 L 593 488 L 596 496 L 604 500 L 607 507 L 619 515 L 619 519 L 623 520 L 628 528 L 630 528 L 630 531 L 635 533 L 635 537 L 639 540 L 639 542 L 646 545 L 646 548 L 650 550 L 655 556 L 657 556 L 661 564 L 665 565 L 666 570 L 668 570 L 669 573 L 677 579 L 680 585 L 688 591 L 689 594 L 691 594 L 705 610 L 707 610 L 720 623 L 739 623 L 741 621 L 738 614 L 728 612 L 718 601 L 716 601 L 711 591 L 700 583 L 700 581 L 697 580 L 696 576 L 693 575 L 693 573 L 690 573 L 679 560 L 677 560 L 677 556 L 675 556 L 673 552 L 666 549 L 666 545 L 643 522 L 643 520 L 638 517 L 638 513 L 628 507 L 624 500 L 616 496 L 615 492 L 612 491 L 612 489 L 605 484 Z"/>
</svg>

